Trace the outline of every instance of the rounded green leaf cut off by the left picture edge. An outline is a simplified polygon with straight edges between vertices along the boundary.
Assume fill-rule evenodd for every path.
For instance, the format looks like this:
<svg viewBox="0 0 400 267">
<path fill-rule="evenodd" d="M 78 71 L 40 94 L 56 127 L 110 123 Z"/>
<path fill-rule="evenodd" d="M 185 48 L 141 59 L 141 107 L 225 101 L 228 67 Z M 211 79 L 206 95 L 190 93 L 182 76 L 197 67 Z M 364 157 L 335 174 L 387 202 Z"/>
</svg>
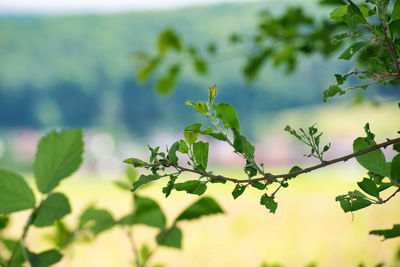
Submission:
<svg viewBox="0 0 400 267">
<path fill-rule="evenodd" d="M 0 214 L 35 207 L 35 196 L 24 178 L 0 169 Z"/>
</svg>

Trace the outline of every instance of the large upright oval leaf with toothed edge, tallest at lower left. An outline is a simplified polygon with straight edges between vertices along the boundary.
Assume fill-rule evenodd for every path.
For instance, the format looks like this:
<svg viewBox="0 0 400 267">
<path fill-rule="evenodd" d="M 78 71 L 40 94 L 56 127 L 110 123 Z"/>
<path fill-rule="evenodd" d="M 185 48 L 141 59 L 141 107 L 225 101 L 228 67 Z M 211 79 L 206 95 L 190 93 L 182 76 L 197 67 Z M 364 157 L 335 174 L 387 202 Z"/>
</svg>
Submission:
<svg viewBox="0 0 400 267">
<path fill-rule="evenodd" d="M 41 193 L 54 189 L 82 163 L 82 130 L 52 131 L 40 140 L 34 164 L 36 184 Z"/>
</svg>

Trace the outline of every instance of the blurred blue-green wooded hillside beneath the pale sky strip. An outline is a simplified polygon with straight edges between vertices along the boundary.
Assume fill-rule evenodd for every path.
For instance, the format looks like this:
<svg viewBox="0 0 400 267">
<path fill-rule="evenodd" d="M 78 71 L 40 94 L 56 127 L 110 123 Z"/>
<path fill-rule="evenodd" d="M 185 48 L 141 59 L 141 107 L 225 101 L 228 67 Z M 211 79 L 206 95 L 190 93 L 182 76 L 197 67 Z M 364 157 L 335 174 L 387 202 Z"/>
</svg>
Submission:
<svg viewBox="0 0 400 267">
<path fill-rule="evenodd" d="M 182 127 L 197 116 L 182 112 L 189 110 L 184 101 L 206 96 L 206 87 L 214 83 L 219 100 L 233 102 L 248 126 L 252 122 L 246 118 L 254 114 L 320 103 L 332 73 L 346 68 L 318 57 L 304 60 L 289 77 L 267 67 L 259 81 L 247 84 L 241 76 L 244 55 L 235 53 L 212 63 L 208 77 L 185 70 L 168 98 L 155 96 L 151 82 L 134 80 L 130 53 L 155 49 L 163 28 L 176 29 L 186 43 L 216 41 L 221 53 L 229 54 L 229 34 L 250 33 L 257 13 L 271 7 L 279 12 L 284 5 L 268 1 L 113 15 L 0 17 L 0 127 L 94 126 L 137 135 L 156 126 Z M 326 13 L 315 7 L 311 12 Z"/>
</svg>

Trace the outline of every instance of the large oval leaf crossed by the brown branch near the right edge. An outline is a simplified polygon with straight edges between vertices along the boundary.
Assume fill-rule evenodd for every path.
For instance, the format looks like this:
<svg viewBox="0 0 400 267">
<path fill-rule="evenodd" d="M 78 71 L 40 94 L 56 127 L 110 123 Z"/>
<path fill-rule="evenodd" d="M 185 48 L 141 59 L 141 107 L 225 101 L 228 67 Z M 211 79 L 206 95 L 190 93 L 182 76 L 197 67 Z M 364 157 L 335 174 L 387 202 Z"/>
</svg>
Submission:
<svg viewBox="0 0 400 267">
<path fill-rule="evenodd" d="M 359 137 L 354 140 L 353 150 L 354 153 L 367 149 L 371 146 L 376 145 L 376 143 L 370 138 Z M 385 156 L 380 149 L 368 152 L 361 156 L 356 157 L 358 163 L 367 170 L 382 175 L 383 177 L 389 176 L 389 171 L 387 169 Z"/>
</svg>

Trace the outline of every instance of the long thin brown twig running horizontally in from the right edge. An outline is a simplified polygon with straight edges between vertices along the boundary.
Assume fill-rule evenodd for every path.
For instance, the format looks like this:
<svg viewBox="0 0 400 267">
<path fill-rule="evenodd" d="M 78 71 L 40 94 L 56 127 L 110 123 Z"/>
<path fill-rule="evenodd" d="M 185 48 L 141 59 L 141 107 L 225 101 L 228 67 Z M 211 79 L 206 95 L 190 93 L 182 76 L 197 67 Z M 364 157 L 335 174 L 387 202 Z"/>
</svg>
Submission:
<svg viewBox="0 0 400 267">
<path fill-rule="evenodd" d="M 400 133 L 400 131 L 398 133 Z M 182 167 L 182 166 L 179 166 L 179 165 L 172 164 L 171 162 L 166 162 L 165 164 L 166 164 L 166 166 L 174 167 L 175 169 L 177 169 L 179 171 L 192 172 L 192 173 L 196 173 L 196 174 L 199 174 L 201 176 L 204 176 L 204 177 L 208 177 L 210 179 L 220 179 L 220 180 L 225 180 L 225 181 L 231 181 L 233 183 L 252 183 L 252 182 L 256 182 L 256 181 L 274 182 L 278 178 L 283 178 L 284 180 L 288 180 L 288 179 L 290 179 L 292 177 L 295 177 L 295 176 L 298 176 L 300 174 L 312 172 L 312 171 L 315 171 L 317 169 L 324 168 L 326 166 L 329 166 L 329 165 L 332 165 L 332 164 L 335 164 L 335 163 L 338 163 L 338 162 L 341 162 L 341 161 L 346 162 L 347 160 L 349 160 L 351 158 L 355 158 L 355 157 L 364 155 L 366 153 L 369 153 L 371 151 L 374 151 L 374 150 L 377 150 L 377 149 L 380 149 L 380 148 L 386 148 L 387 146 L 390 146 L 390 145 L 393 145 L 393 144 L 396 144 L 396 143 L 400 143 L 400 138 L 387 139 L 386 142 L 371 146 L 369 148 L 360 150 L 358 152 L 355 152 L 355 153 L 352 153 L 352 154 L 349 154 L 349 155 L 346 155 L 346 156 L 343 156 L 343 157 L 340 157 L 340 158 L 324 161 L 321 164 L 318 164 L 318 165 L 315 165 L 315 166 L 312 166 L 312 167 L 308 167 L 308 168 L 302 169 L 300 171 L 296 171 L 296 172 L 292 172 L 292 173 L 286 173 L 286 174 L 277 174 L 277 175 L 265 174 L 263 177 L 253 178 L 253 179 L 245 179 L 245 180 L 230 178 L 230 177 L 226 177 L 226 176 L 222 176 L 222 175 L 214 175 L 212 173 L 202 172 L 202 171 L 199 171 L 199 170 L 196 170 L 196 169 L 189 169 L 189 168 L 186 168 L 186 167 Z M 397 191 L 396 191 L 396 193 L 397 193 Z"/>
</svg>

